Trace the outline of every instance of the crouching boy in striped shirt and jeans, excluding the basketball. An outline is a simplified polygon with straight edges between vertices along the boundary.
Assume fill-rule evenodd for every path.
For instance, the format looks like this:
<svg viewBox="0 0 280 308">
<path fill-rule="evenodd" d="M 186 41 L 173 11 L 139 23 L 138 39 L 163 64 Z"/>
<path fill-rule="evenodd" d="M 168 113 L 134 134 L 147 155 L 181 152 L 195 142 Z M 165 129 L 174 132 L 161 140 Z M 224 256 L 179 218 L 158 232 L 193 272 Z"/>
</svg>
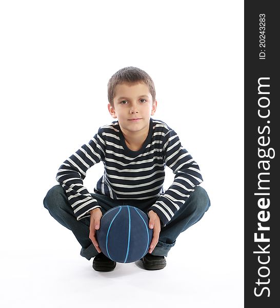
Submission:
<svg viewBox="0 0 280 308">
<path fill-rule="evenodd" d="M 153 238 L 141 260 L 144 268 L 166 266 L 177 236 L 200 220 L 210 206 L 197 163 L 182 147 L 175 131 L 153 120 L 157 107 L 154 83 L 136 67 L 118 70 L 108 83 L 108 110 L 113 119 L 67 159 L 57 172 L 44 206 L 59 223 L 72 230 L 82 245 L 81 256 L 93 259 L 96 271 L 112 271 L 116 262 L 98 246 L 95 232 L 103 214 L 118 205 L 133 205 L 149 217 Z M 86 171 L 104 163 L 104 175 L 94 194 L 83 186 Z M 165 165 L 175 174 L 164 192 Z"/>
</svg>

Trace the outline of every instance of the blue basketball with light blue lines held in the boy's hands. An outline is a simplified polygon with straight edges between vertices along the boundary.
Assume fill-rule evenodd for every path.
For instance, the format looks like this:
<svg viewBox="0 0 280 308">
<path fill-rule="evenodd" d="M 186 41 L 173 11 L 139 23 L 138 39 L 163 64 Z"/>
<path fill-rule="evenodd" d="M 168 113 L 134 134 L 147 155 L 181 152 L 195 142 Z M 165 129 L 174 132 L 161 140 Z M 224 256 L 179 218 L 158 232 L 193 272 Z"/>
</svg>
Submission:
<svg viewBox="0 0 280 308">
<path fill-rule="evenodd" d="M 149 218 L 141 209 L 122 205 L 103 215 L 96 237 L 105 256 L 119 263 L 130 263 L 148 253 L 153 229 L 149 228 Z"/>
</svg>

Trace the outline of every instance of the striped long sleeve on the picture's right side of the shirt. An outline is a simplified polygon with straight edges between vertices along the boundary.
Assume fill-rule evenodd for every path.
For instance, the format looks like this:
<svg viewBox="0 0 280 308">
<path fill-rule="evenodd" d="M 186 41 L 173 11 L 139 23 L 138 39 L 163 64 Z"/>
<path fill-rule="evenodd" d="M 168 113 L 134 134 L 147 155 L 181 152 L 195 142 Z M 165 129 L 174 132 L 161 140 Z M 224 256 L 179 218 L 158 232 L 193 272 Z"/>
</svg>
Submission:
<svg viewBox="0 0 280 308">
<path fill-rule="evenodd" d="M 182 147 L 174 130 L 170 130 L 166 134 L 163 147 L 165 164 L 175 174 L 174 182 L 148 211 L 155 211 L 161 219 L 161 223 L 165 226 L 170 222 L 176 211 L 184 206 L 195 186 L 203 182 L 203 178 L 197 163 Z"/>
</svg>

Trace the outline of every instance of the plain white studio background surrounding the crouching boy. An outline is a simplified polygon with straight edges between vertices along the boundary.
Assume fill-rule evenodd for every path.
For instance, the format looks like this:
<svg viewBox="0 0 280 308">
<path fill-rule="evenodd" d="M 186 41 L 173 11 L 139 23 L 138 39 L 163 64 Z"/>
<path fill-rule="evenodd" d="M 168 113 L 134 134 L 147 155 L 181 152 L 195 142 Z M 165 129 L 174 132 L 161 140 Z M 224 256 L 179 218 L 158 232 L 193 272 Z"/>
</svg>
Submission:
<svg viewBox="0 0 280 308">
<path fill-rule="evenodd" d="M 2 307 L 243 307 L 242 1 L 0 3 Z M 153 79 L 160 119 L 201 168 L 211 207 L 167 266 L 98 273 L 43 206 L 58 167 L 113 120 L 107 83 Z M 167 168 L 165 189 L 173 181 Z M 93 192 L 97 164 L 84 181 Z"/>
</svg>

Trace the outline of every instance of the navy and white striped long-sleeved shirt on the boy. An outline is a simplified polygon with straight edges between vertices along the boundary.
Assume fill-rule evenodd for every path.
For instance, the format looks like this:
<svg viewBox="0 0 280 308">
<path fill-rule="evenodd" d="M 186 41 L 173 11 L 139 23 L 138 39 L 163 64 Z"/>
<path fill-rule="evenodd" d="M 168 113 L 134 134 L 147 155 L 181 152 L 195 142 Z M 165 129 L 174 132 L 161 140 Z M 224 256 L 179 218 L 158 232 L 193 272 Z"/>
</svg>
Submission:
<svg viewBox="0 0 280 308">
<path fill-rule="evenodd" d="M 99 162 L 104 174 L 94 192 L 111 199 L 156 199 L 155 211 L 163 226 L 184 206 L 203 179 L 197 163 L 182 147 L 176 132 L 159 120 L 150 119 L 148 136 L 138 151 L 130 150 L 118 121 L 99 127 L 89 141 L 60 167 L 56 180 L 64 188 L 77 220 L 101 207 L 83 185 L 87 170 Z M 172 169 L 174 182 L 164 191 L 165 166 Z"/>
</svg>

